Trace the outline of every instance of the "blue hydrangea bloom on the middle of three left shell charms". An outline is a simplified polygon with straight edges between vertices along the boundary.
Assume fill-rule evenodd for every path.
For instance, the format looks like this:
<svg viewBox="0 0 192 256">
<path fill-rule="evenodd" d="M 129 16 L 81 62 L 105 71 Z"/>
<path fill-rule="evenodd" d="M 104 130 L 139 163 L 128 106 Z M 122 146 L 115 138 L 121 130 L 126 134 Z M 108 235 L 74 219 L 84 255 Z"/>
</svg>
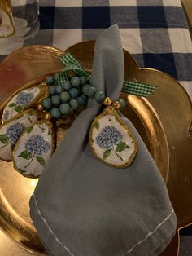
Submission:
<svg viewBox="0 0 192 256">
<path fill-rule="evenodd" d="M 16 143 L 22 132 L 26 129 L 26 126 L 20 122 L 15 122 L 15 124 L 7 128 L 7 137 L 11 139 L 12 143 Z"/>
</svg>

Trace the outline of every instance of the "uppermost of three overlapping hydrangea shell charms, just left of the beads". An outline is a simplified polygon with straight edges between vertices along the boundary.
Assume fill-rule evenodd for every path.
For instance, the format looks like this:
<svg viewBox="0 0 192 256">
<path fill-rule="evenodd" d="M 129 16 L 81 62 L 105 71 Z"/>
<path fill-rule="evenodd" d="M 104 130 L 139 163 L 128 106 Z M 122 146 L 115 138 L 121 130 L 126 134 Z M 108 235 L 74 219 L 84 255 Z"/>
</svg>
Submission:
<svg viewBox="0 0 192 256">
<path fill-rule="evenodd" d="M 25 108 L 37 104 L 41 99 L 46 98 L 47 95 L 49 95 L 49 89 L 46 83 L 41 83 L 38 86 L 33 86 L 20 91 L 11 98 L 4 108 L 2 113 L 2 123 L 8 121 L 11 117 L 14 117 Z"/>
</svg>

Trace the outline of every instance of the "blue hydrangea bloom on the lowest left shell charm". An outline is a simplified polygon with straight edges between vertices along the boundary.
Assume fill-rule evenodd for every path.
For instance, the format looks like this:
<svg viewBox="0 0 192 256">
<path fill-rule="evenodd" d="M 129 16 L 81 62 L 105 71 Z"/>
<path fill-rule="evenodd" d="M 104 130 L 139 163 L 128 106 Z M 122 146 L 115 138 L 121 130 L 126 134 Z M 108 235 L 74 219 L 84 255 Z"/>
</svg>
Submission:
<svg viewBox="0 0 192 256">
<path fill-rule="evenodd" d="M 50 143 L 46 142 L 41 135 L 33 135 L 25 143 L 25 148 L 28 152 L 42 156 L 50 150 Z"/>
</svg>

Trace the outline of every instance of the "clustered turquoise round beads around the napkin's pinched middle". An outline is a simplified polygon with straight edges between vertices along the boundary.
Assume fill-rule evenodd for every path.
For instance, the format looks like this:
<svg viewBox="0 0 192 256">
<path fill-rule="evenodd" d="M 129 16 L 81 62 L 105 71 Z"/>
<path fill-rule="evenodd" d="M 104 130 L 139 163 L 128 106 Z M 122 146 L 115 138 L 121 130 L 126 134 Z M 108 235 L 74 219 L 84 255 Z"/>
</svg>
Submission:
<svg viewBox="0 0 192 256">
<path fill-rule="evenodd" d="M 43 99 L 42 105 L 55 119 L 68 115 L 72 110 L 85 108 L 88 99 L 94 99 L 98 104 L 103 104 L 106 98 L 103 91 L 98 91 L 85 76 L 68 77 L 68 81 L 58 85 L 55 74 L 55 77 L 46 77 L 46 84 L 49 86 L 50 97 Z M 118 102 L 120 109 L 123 109 L 124 99 L 119 99 Z"/>
</svg>

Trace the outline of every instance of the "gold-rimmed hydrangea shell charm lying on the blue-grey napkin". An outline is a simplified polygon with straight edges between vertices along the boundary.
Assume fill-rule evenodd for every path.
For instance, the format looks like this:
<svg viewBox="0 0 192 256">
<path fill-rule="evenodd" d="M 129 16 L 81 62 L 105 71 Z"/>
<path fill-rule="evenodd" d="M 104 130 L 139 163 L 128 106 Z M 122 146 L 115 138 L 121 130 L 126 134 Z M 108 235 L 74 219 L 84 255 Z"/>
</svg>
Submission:
<svg viewBox="0 0 192 256">
<path fill-rule="evenodd" d="M 112 106 L 94 118 L 89 143 L 96 157 L 118 168 L 129 166 L 137 153 L 137 141 Z"/>
</svg>

